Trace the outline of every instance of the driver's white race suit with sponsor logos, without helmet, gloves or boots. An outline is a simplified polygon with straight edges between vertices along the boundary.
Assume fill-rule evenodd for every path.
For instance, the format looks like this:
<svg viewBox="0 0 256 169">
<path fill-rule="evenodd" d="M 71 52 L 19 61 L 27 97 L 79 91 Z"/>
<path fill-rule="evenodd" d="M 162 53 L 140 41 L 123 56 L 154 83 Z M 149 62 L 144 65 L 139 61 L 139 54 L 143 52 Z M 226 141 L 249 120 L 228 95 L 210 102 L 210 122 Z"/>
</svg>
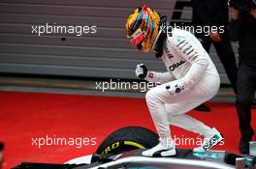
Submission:
<svg viewBox="0 0 256 169">
<path fill-rule="evenodd" d="M 218 72 L 203 48 L 190 32 L 174 29 L 164 42 L 162 60 L 166 72 L 148 71 L 145 80 L 161 85 L 150 89 L 146 103 L 160 140 L 171 138 L 170 125 L 202 135 L 210 129 L 185 113 L 211 99 L 218 92 Z M 170 93 L 167 86 L 181 85 Z"/>
</svg>

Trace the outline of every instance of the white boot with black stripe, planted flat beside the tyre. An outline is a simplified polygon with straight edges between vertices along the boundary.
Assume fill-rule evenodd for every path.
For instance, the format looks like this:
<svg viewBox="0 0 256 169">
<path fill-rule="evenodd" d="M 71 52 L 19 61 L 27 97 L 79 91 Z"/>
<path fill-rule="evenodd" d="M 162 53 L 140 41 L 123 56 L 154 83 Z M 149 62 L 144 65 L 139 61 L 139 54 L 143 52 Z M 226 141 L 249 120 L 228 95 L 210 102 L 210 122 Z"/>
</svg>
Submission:
<svg viewBox="0 0 256 169">
<path fill-rule="evenodd" d="M 169 141 L 159 141 L 158 145 L 144 151 L 142 155 L 153 157 L 173 156 L 176 155 L 176 146 L 173 139 L 169 139 Z"/>
</svg>

